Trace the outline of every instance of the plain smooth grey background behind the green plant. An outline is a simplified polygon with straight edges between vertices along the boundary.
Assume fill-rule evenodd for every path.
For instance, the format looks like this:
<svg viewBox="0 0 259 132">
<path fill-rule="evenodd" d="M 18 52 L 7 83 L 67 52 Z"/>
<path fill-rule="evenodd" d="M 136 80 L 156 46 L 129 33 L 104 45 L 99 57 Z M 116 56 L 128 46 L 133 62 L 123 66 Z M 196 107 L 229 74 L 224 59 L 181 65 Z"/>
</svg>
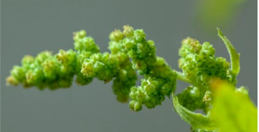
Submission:
<svg viewBox="0 0 259 132">
<path fill-rule="evenodd" d="M 174 69 L 180 42 L 187 36 L 210 42 L 216 55 L 229 60 L 216 27 L 210 32 L 196 25 L 194 2 L 1 0 L 1 132 L 189 132 L 171 99 L 136 113 L 116 101 L 112 83 L 95 79 L 87 86 L 39 91 L 6 87 L 5 78 L 26 54 L 73 48 L 72 32 L 80 29 L 95 38 L 102 52 L 108 51 L 109 33 L 127 24 L 143 28 L 147 39 L 155 41 L 157 54 Z M 233 22 L 221 29 L 241 53 L 237 86 L 248 86 L 257 104 L 257 0 L 245 2 Z M 188 84 L 177 85 L 179 92 Z"/>
</svg>

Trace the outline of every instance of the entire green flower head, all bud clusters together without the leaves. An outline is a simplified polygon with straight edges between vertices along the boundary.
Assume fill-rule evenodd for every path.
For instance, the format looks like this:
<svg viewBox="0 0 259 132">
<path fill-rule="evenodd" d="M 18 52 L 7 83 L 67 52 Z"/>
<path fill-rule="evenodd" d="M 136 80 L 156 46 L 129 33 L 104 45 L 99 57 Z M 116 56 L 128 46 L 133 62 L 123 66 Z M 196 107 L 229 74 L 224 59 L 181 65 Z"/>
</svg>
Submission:
<svg viewBox="0 0 259 132">
<path fill-rule="evenodd" d="M 178 95 L 179 102 L 190 110 L 206 109 L 205 104 L 210 104 L 210 79 L 236 82 L 230 63 L 225 58 L 215 57 L 215 49 L 209 43 L 201 45 L 192 38 L 184 39 L 179 50 L 179 68 L 183 73 L 175 72 L 156 55 L 155 44 L 146 40 L 143 29 L 123 26 L 123 32 L 112 31 L 110 53 L 100 53 L 85 30 L 74 32 L 73 39 L 74 50 L 60 50 L 56 54 L 45 51 L 35 57 L 26 55 L 22 66 L 14 66 L 11 70 L 7 84 L 58 89 L 70 87 L 74 76 L 79 85 L 86 85 L 94 78 L 104 82 L 113 80 L 117 100 L 127 102 L 130 98 L 129 107 L 139 111 L 143 105 L 147 108 L 161 105 L 165 97 L 175 91 L 179 77 L 194 85 Z M 135 70 L 144 76 L 140 86 L 135 86 Z"/>
</svg>

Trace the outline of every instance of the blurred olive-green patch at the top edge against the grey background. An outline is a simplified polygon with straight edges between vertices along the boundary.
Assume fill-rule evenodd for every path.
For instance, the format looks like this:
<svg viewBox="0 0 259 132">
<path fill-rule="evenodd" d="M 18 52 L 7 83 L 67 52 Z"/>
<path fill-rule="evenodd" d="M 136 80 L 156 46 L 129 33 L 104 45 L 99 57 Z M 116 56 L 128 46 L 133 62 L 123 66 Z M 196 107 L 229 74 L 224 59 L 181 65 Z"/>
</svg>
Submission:
<svg viewBox="0 0 259 132">
<path fill-rule="evenodd" d="M 247 0 L 197 0 L 197 22 L 209 30 L 228 26 L 245 1 Z"/>
</svg>

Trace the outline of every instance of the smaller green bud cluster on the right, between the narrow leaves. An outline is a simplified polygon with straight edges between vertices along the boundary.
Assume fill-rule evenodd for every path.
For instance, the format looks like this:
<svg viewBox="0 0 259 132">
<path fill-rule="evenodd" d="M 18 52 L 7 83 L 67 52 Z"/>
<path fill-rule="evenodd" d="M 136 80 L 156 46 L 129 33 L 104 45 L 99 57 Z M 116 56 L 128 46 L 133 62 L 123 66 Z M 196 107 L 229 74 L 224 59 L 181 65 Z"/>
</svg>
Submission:
<svg viewBox="0 0 259 132">
<path fill-rule="evenodd" d="M 226 80 L 233 85 L 236 79 L 230 69 L 230 62 L 225 58 L 215 57 L 215 49 L 208 42 L 186 38 L 179 49 L 179 68 L 182 78 L 194 86 L 189 86 L 178 94 L 179 103 L 189 110 L 203 109 L 210 105 L 212 79 Z"/>
</svg>

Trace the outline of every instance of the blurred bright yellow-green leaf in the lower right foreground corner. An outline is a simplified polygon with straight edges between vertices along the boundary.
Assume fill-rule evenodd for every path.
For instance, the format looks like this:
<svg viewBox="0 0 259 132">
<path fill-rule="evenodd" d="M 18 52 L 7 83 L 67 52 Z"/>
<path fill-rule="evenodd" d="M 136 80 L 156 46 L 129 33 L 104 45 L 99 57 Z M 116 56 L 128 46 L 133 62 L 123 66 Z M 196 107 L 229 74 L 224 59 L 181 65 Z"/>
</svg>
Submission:
<svg viewBox="0 0 259 132">
<path fill-rule="evenodd" d="M 233 90 L 229 84 L 220 84 L 213 89 L 211 118 L 220 132 L 257 132 L 257 108 L 246 93 Z"/>
</svg>

